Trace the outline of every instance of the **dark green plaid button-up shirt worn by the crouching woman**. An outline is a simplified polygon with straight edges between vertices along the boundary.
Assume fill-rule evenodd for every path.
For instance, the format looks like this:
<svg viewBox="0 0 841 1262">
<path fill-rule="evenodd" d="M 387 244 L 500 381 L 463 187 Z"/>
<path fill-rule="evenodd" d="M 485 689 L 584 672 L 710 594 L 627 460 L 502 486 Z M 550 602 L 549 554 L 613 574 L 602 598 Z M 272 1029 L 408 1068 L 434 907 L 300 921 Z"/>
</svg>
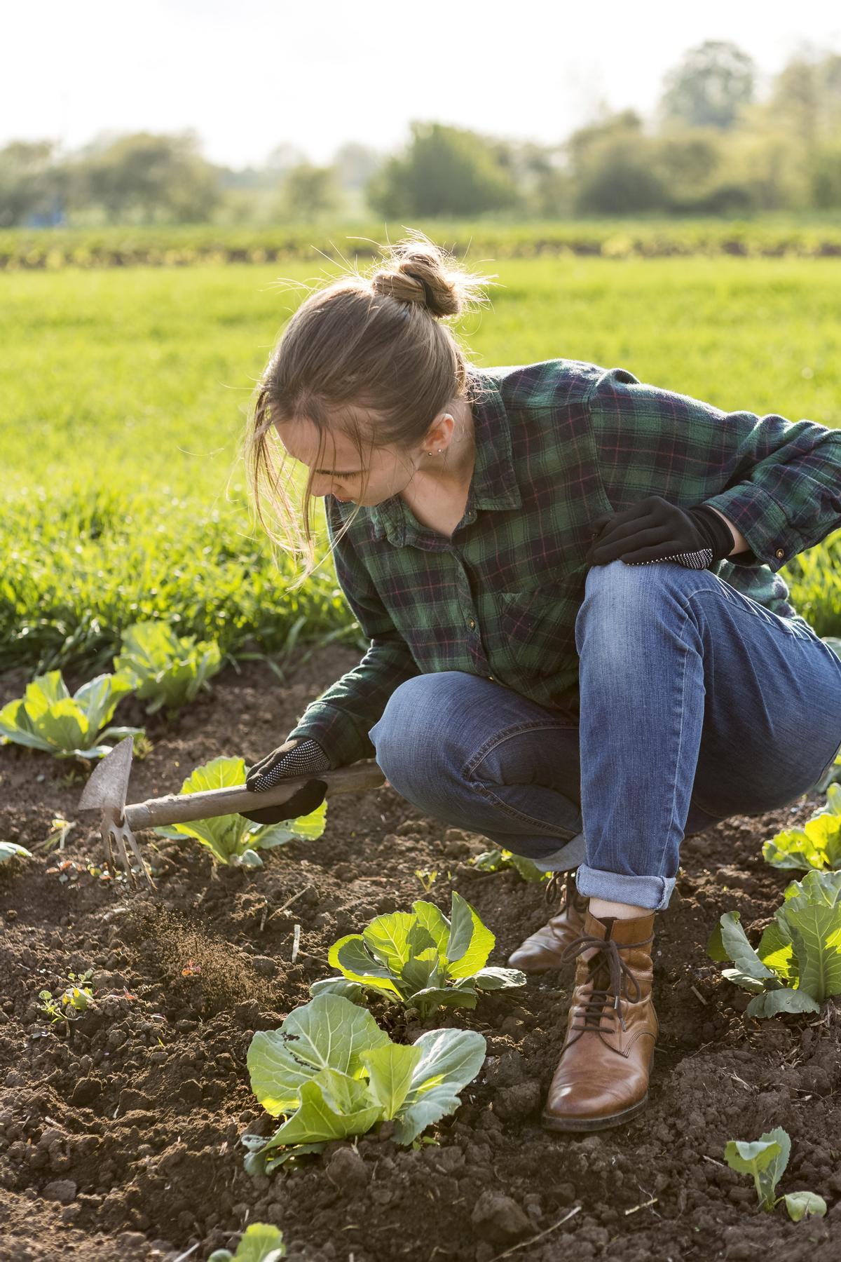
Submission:
<svg viewBox="0 0 841 1262">
<path fill-rule="evenodd" d="M 545 360 L 470 369 L 475 467 L 451 541 L 400 495 L 363 507 L 335 546 L 364 658 L 291 736 L 333 766 L 376 756 L 368 729 L 398 684 L 464 670 L 579 717 L 575 617 L 590 521 L 648 495 L 709 504 L 751 551 L 712 573 L 782 617 L 799 617 L 778 570 L 841 526 L 841 432 L 725 413 L 641 384 L 625 369 Z M 330 541 L 353 505 L 325 496 Z"/>
</svg>

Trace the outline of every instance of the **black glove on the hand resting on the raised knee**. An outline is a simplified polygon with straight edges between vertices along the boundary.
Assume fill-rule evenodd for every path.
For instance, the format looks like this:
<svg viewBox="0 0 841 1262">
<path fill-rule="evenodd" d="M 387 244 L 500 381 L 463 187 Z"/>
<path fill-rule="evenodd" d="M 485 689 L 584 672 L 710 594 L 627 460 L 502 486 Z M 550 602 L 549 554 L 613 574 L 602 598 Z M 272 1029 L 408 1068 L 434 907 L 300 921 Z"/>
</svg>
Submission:
<svg viewBox="0 0 841 1262">
<path fill-rule="evenodd" d="M 585 560 L 591 565 L 675 560 L 686 569 L 709 569 L 729 557 L 735 543 L 728 522 L 712 509 L 704 504 L 678 509 L 659 495 L 623 512 L 603 512 L 590 525 L 594 536 Z"/>
</svg>

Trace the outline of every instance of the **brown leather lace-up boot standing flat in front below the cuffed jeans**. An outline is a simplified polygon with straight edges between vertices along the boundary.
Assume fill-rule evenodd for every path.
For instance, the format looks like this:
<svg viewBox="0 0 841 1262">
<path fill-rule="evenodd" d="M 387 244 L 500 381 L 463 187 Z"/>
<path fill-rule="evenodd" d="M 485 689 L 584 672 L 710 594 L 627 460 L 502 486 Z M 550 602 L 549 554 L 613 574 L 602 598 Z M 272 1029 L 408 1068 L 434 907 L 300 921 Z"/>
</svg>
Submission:
<svg viewBox="0 0 841 1262">
<path fill-rule="evenodd" d="M 652 1003 L 654 915 L 593 912 L 565 952 L 577 957 L 561 1059 L 542 1123 L 550 1131 L 601 1131 L 646 1107 L 659 1030 Z"/>
</svg>

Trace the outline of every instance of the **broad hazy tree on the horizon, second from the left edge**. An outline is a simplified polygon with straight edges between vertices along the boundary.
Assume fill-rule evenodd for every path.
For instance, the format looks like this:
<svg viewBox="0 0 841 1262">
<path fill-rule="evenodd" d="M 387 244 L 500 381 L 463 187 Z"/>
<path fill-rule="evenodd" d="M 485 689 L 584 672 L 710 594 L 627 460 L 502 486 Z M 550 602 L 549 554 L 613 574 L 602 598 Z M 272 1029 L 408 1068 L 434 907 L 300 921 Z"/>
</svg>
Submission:
<svg viewBox="0 0 841 1262">
<path fill-rule="evenodd" d="M 78 196 L 105 207 L 112 222 L 202 222 L 219 199 L 219 172 L 198 149 L 192 130 L 101 136 L 74 163 Z"/>
</svg>

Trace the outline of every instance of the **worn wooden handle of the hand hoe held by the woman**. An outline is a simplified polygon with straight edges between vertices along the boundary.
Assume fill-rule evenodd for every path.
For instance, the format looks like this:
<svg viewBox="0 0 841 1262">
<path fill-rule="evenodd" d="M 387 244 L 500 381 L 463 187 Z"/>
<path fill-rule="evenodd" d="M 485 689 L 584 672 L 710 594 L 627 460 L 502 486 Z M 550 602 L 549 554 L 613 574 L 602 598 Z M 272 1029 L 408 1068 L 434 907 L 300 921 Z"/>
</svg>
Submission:
<svg viewBox="0 0 841 1262">
<path fill-rule="evenodd" d="M 206 789 L 202 793 L 150 798 L 149 801 L 126 806 L 125 822 L 134 830 L 153 828 L 156 824 L 185 824 L 192 819 L 212 819 L 216 815 L 237 815 L 243 810 L 260 810 L 264 806 L 280 806 L 303 789 L 308 780 L 323 780 L 327 784 L 327 796 L 332 798 L 337 793 L 381 789 L 386 776 L 373 758 L 369 758 L 354 762 L 351 767 L 337 767 L 334 771 L 290 776 L 264 793 L 252 793 L 245 785 L 229 785 L 224 789 Z"/>
</svg>

